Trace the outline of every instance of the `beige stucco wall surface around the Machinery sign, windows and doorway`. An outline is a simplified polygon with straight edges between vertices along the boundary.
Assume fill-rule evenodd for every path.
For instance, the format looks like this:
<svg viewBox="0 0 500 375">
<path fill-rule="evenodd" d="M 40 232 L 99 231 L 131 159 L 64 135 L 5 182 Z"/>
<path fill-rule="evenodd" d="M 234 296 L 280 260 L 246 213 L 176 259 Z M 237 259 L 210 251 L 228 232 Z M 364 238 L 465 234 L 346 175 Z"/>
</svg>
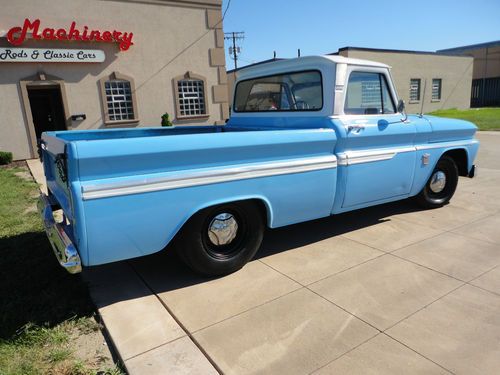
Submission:
<svg viewBox="0 0 500 375">
<path fill-rule="evenodd" d="M 64 81 L 69 129 L 106 128 L 99 79 L 119 72 L 135 81 L 139 122 L 120 126 L 159 126 L 161 115 L 174 124 L 223 123 L 228 117 L 221 1 L 97 1 L 25 0 L 9 2 L 0 12 L 0 34 L 24 19 L 40 19 L 41 28 L 78 28 L 133 32 L 134 45 L 120 51 L 117 44 L 28 40 L 25 48 L 99 49 L 103 63 L 0 63 L 0 150 L 15 159 L 34 157 L 29 142 L 29 119 L 23 110 L 20 81 L 44 73 Z M 12 47 L 5 37 L 0 47 Z M 177 120 L 173 78 L 192 72 L 206 78 L 209 115 Z M 84 113 L 83 121 L 71 121 Z"/>
</svg>

